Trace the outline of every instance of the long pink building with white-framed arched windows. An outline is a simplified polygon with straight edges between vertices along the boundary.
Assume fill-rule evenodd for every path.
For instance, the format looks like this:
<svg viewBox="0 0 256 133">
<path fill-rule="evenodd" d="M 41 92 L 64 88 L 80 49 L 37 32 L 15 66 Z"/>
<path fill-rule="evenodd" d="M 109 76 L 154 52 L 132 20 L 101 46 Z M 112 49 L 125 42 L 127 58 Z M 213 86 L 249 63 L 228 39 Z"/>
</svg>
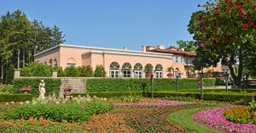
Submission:
<svg viewBox="0 0 256 133">
<path fill-rule="evenodd" d="M 184 52 L 173 47 L 142 47 L 142 51 L 113 49 L 104 47 L 83 47 L 67 44 L 49 48 L 35 55 L 35 60 L 44 64 L 68 66 L 90 65 L 93 69 L 102 64 L 108 77 L 145 77 L 154 73 L 156 78 L 166 78 L 172 67 L 172 77 L 181 74 L 182 78 L 188 77 L 191 72 L 192 61 L 195 53 Z M 221 71 L 221 65 L 215 70 Z"/>
</svg>

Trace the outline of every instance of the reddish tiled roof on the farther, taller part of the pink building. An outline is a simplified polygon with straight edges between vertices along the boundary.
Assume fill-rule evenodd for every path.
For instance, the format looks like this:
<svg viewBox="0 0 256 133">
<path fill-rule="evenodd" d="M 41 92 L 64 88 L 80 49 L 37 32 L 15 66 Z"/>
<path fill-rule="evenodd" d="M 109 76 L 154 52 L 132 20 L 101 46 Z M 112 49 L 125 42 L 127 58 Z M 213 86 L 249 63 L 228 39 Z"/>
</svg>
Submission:
<svg viewBox="0 0 256 133">
<path fill-rule="evenodd" d="M 183 55 L 188 55 L 188 56 L 196 56 L 195 52 L 185 52 L 185 51 L 178 51 L 178 50 L 172 50 L 172 49 L 152 49 L 152 50 L 148 50 L 148 52 L 152 52 L 152 53 L 173 53 L 173 54 L 183 54 Z"/>
</svg>

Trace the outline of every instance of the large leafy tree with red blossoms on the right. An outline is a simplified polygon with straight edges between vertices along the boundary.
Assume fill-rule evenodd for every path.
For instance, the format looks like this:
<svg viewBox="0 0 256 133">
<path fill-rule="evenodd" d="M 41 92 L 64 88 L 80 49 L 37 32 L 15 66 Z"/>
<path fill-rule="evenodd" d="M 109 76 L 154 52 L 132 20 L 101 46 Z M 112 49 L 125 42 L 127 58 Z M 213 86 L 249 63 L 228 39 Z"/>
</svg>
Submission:
<svg viewBox="0 0 256 133">
<path fill-rule="evenodd" d="M 242 71 L 256 53 L 256 1 L 218 0 L 199 6 L 205 10 L 192 14 L 188 25 L 198 47 L 197 63 L 206 67 L 221 59 L 234 84 L 241 86 Z"/>
</svg>

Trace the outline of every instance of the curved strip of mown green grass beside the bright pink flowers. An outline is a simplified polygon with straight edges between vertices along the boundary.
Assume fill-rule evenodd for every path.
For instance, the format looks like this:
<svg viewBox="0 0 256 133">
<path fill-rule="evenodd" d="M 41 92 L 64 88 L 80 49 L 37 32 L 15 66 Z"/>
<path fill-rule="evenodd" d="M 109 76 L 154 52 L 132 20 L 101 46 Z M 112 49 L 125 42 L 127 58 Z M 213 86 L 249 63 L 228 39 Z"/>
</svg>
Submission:
<svg viewBox="0 0 256 133">
<path fill-rule="evenodd" d="M 188 108 L 179 110 L 169 115 L 168 119 L 171 123 L 181 125 L 188 132 L 196 132 L 196 133 L 218 133 L 217 130 L 212 130 L 206 126 L 200 125 L 196 123 L 193 119 L 191 119 L 191 115 L 195 114 L 195 112 L 200 111 L 202 109 L 209 108 Z"/>
</svg>

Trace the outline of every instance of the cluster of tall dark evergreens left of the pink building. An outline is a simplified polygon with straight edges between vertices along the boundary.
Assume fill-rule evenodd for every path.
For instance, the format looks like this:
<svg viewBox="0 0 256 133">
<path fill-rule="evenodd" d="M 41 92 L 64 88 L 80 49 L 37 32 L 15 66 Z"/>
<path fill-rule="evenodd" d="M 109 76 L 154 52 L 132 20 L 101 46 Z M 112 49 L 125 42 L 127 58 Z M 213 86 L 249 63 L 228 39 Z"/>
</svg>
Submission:
<svg viewBox="0 0 256 133">
<path fill-rule="evenodd" d="M 9 67 L 20 68 L 21 63 L 24 67 L 33 61 L 34 54 L 62 42 L 65 42 L 64 36 L 57 26 L 45 27 L 38 20 L 30 22 L 20 10 L 7 12 L 0 19 L 0 81 L 9 74 L 3 73 Z"/>
</svg>

